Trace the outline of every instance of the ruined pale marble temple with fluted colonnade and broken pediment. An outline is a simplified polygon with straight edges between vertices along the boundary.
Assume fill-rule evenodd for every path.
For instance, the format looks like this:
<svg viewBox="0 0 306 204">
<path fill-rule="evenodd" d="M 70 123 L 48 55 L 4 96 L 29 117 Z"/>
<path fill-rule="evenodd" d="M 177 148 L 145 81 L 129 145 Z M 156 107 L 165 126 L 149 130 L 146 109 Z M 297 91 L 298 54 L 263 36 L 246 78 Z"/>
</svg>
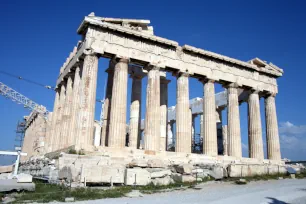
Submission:
<svg viewBox="0 0 306 204">
<path fill-rule="evenodd" d="M 70 53 L 56 81 L 54 109 L 47 120 L 43 154 L 74 149 L 86 154 L 71 156 L 79 160 L 89 159 L 90 155 L 91 160 L 96 160 L 96 157 L 101 160 L 107 155 L 107 159 L 103 157 L 103 160 L 108 161 L 104 165 L 116 163 L 114 158 L 121 157 L 125 161 L 123 164 L 129 167 L 142 167 L 139 162 L 145 160 L 143 167 L 146 168 L 150 167 L 150 162 L 157 167 L 190 165 L 199 161 L 226 163 L 231 164 L 227 168 L 228 171 L 232 169 L 232 175 L 235 174 L 233 172 L 240 175 L 242 170 L 236 167 L 244 164 L 248 164 L 248 168 L 250 164 L 259 165 L 258 168 L 277 165 L 279 170 L 284 163 L 281 161 L 275 98 L 278 93 L 276 79 L 283 75 L 283 70 L 259 58 L 244 62 L 190 45 L 180 46 L 175 41 L 154 35 L 153 27 L 149 24 L 149 20 L 102 18 L 94 13 L 84 18 L 77 30 L 82 41 Z M 98 59 L 101 57 L 110 59 L 106 69 L 102 127 L 94 120 Z M 175 107 L 168 107 L 170 80 L 167 74 L 177 78 Z M 147 87 L 142 87 L 144 77 L 148 79 Z M 132 80 L 131 105 L 127 107 L 129 78 Z M 190 101 L 190 78 L 197 78 L 203 84 L 203 98 Z M 216 83 L 221 84 L 226 91 L 216 94 Z M 141 122 L 143 89 L 146 89 L 146 109 L 145 119 Z M 260 98 L 265 100 L 266 127 L 261 125 L 264 118 L 260 114 Z M 242 157 L 239 116 L 242 102 L 248 104 L 249 158 Z M 129 121 L 126 121 L 127 110 L 130 111 Z M 221 117 L 221 112 L 225 110 L 227 126 L 222 127 L 225 118 Z M 198 115 L 201 115 L 203 154 L 192 153 L 194 118 Z M 37 119 L 34 123 L 39 125 Z M 264 159 L 264 129 L 267 159 Z M 170 152 L 169 137 L 172 138 L 174 133 L 174 152 Z M 30 134 L 31 127 L 26 131 L 25 152 L 32 151 L 27 141 Z M 221 143 L 217 135 L 221 135 Z M 67 155 L 60 157 L 61 167 L 57 167 L 59 172 L 61 168 L 72 165 L 69 158 Z M 113 160 L 109 161 L 110 158 Z M 157 164 L 158 159 L 162 160 L 163 165 Z M 78 169 L 83 169 L 78 171 L 83 173 L 84 168 L 100 169 L 100 166 L 78 165 Z M 127 166 L 124 169 L 113 166 L 114 169 L 119 168 L 117 172 L 125 172 L 123 177 L 116 177 L 119 183 L 129 183 L 130 176 L 134 174 L 146 175 L 149 172 L 148 175 L 152 176 L 148 169 L 144 173 L 142 169 Z M 113 170 L 108 168 L 104 167 L 102 172 L 111 174 Z M 193 171 L 190 168 L 190 172 Z M 269 171 L 267 169 L 262 171 Z M 185 175 L 185 170 L 182 171 L 179 179 L 184 180 L 182 175 Z M 166 176 L 171 174 L 164 173 Z M 175 174 L 179 173 L 180 170 L 177 170 Z M 80 179 L 84 177 L 81 174 L 79 176 Z M 108 179 L 103 176 L 97 175 L 97 178 L 101 177 L 99 181 Z M 175 178 L 177 176 L 174 175 Z M 185 179 L 188 180 L 187 177 Z"/>
</svg>

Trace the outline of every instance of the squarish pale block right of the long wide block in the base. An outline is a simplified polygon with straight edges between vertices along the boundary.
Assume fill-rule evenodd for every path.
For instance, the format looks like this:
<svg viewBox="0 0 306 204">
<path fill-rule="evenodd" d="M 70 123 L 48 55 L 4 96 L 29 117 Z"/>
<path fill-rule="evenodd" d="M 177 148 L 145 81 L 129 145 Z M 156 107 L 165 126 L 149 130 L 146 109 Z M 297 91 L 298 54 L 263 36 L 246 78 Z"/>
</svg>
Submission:
<svg viewBox="0 0 306 204">
<path fill-rule="evenodd" d="M 145 186 L 151 183 L 151 174 L 146 169 L 126 169 L 125 185 Z"/>
</svg>

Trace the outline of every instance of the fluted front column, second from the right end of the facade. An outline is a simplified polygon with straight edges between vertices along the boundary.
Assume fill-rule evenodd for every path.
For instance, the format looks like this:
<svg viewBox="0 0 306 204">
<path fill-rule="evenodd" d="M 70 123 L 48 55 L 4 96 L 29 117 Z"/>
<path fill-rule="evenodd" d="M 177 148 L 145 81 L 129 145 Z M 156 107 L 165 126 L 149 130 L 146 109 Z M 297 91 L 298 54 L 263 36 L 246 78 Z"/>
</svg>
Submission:
<svg viewBox="0 0 306 204">
<path fill-rule="evenodd" d="M 258 92 L 252 90 L 248 98 L 249 157 L 264 159 Z"/>
</svg>

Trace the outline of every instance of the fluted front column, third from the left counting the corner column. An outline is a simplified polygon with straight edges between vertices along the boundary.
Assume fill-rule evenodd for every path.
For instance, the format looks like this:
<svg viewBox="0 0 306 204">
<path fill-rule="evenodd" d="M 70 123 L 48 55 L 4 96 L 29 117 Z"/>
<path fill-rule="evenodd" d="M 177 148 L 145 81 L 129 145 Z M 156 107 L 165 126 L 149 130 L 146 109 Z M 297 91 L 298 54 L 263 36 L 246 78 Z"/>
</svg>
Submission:
<svg viewBox="0 0 306 204">
<path fill-rule="evenodd" d="M 148 66 L 144 149 L 160 151 L 160 74 L 159 68 Z"/>
</svg>

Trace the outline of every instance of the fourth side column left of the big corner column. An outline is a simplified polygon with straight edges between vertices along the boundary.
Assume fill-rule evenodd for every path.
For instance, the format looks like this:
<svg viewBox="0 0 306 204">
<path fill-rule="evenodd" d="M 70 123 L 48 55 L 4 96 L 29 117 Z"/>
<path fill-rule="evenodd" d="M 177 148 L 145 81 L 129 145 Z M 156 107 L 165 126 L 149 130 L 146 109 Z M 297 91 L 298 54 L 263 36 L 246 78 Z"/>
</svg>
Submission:
<svg viewBox="0 0 306 204">
<path fill-rule="evenodd" d="M 53 147 L 54 147 L 54 142 L 55 142 L 55 137 L 56 137 L 56 120 L 57 120 L 59 103 L 60 103 L 60 93 L 59 93 L 59 89 L 56 89 L 47 152 L 52 152 Z"/>
</svg>

